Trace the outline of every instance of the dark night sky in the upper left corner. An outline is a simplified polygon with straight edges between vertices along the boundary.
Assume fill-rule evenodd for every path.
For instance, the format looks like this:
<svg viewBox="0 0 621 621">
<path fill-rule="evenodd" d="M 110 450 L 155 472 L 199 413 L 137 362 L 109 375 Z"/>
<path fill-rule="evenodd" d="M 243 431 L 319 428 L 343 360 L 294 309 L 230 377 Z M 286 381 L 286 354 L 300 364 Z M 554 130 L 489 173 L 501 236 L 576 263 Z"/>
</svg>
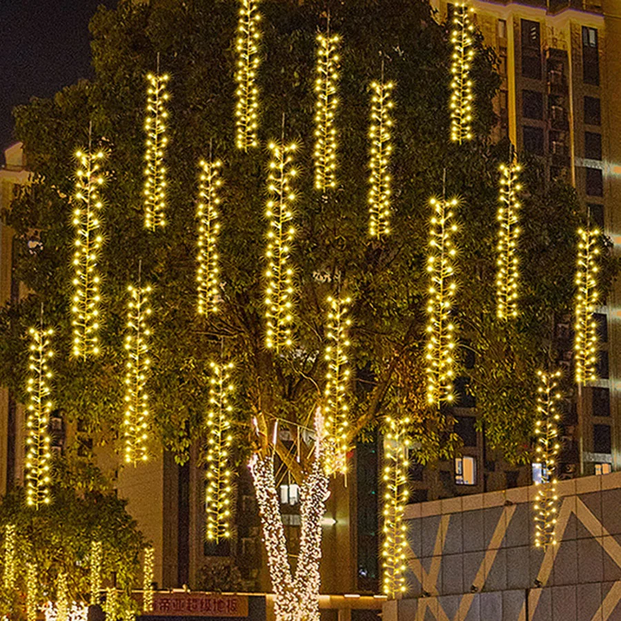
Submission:
<svg viewBox="0 0 621 621">
<path fill-rule="evenodd" d="M 116 0 L 0 0 L 0 164 L 13 106 L 92 77 L 88 21 L 100 4 Z"/>
</svg>

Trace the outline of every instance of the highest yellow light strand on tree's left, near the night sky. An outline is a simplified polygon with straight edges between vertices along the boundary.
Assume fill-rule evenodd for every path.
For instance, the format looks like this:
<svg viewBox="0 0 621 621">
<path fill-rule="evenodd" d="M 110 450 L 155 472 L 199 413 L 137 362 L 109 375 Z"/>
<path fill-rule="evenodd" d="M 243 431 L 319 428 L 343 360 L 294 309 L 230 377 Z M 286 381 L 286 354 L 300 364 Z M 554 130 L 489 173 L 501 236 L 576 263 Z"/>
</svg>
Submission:
<svg viewBox="0 0 621 621">
<path fill-rule="evenodd" d="M 166 85 L 170 79 L 166 74 L 150 73 L 146 77 L 147 106 L 144 119 L 146 152 L 144 159 L 144 226 L 148 230 L 166 226 L 166 167 L 164 152 L 168 139 L 166 133 Z"/>
</svg>

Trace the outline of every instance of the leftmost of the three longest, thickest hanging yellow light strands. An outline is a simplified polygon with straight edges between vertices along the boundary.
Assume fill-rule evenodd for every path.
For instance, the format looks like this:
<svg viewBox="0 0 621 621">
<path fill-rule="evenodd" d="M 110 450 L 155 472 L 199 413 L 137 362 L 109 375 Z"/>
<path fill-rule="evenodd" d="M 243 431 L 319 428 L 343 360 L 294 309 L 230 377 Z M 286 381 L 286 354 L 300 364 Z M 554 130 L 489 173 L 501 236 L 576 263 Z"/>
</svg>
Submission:
<svg viewBox="0 0 621 621">
<path fill-rule="evenodd" d="M 73 212 L 75 253 L 73 266 L 75 293 L 72 299 L 73 355 L 86 359 L 99 353 L 99 281 L 97 255 L 101 249 L 99 213 L 103 207 L 99 188 L 103 185 L 101 161 L 103 152 L 78 151 L 76 172 L 76 208 Z"/>
</svg>

